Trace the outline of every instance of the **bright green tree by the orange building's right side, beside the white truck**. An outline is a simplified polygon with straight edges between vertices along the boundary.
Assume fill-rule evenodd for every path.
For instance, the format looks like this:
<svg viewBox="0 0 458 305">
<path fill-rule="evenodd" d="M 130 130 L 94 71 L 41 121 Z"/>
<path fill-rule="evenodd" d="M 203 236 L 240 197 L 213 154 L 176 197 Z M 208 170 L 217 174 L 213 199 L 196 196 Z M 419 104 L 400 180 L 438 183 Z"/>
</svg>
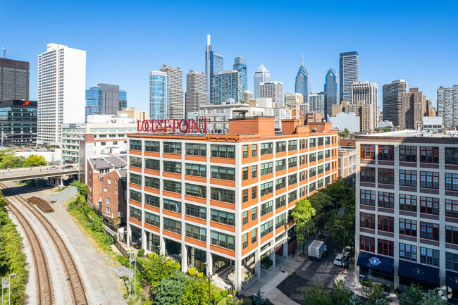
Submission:
<svg viewBox="0 0 458 305">
<path fill-rule="evenodd" d="M 292 211 L 292 217 L 294 218 L 295 232 L 297 236 L 297 242 L 302 244 L 302 252 L 305 251 L 305 244 L 309 233 L 315 232 L 315 224 L 311 219 L 316 214 L 315 208 L 313 208 L 308 199 L 302 199 L 297 201 L 294 211 Z"/>
</svg>

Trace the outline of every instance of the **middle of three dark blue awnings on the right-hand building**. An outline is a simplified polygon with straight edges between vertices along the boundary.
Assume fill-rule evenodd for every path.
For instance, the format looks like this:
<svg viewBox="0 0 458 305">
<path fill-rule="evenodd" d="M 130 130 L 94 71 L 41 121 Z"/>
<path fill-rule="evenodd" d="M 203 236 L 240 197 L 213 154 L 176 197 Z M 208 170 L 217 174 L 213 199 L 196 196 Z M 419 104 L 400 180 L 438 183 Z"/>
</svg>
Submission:
<svg viewBox="0 0 458 305">
<path fill-rule="evenodd" d="M 439 268 L 412 263 L 411 261 L 399 261 L 397 275 L 411 280 L 418 280 L 427 284 L 439 286 Z"/>
</svg>

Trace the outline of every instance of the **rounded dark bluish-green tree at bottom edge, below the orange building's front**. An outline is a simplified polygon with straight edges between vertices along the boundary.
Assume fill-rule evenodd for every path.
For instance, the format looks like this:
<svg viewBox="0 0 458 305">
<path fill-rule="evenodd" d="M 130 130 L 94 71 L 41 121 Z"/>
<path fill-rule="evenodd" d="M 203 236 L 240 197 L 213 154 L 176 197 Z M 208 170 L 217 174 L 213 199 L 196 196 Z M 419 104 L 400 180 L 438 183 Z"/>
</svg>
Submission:
<svg viewBox="0 0 458 305">
<path fill-rule="evenodd" d="M 182 273 L 175 273 L 163 278 L 152 288 L 153 305 L 177 305 L 181 304 L 183 290 L 187 277 Z"/>
</svg>

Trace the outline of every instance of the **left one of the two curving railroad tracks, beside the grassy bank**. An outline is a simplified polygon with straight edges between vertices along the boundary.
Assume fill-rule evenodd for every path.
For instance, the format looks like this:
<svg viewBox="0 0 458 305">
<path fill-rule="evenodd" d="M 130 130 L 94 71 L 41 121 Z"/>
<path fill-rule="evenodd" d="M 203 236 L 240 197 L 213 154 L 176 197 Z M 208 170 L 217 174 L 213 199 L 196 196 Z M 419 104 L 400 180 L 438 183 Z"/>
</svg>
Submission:
<svg viewBox="0 0 458 305">
<path fill-rule="evenodd" d="M 37 279 L 37 301 L 39 305 L 54 304 L 54 291 L 49 277 L 49 266 L 44 256 L 44 250 L 41 242 L 35 233 L 35 230 L 27 222 L 23 213 L 20 213 L 13 204 L 8 205 L 9 210 L 16 216 L 20 226 L 23 227 L 25 236 L 30 243 L 30 251 L 35 265 L 35 278 Z"/>
</svg>

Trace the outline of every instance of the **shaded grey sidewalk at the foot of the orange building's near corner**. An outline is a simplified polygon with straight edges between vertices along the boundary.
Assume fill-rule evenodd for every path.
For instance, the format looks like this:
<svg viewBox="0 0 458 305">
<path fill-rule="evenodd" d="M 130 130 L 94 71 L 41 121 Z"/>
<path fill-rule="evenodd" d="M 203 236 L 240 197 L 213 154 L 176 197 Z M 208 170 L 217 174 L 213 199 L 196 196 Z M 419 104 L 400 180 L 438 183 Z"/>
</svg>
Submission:
<svg viewBox="0 0 458 305">
<path fill-rule="evenodd" d="M 262 297 L 264 297 L 264 299 L 269 299 L 269 301 L 275 305 L 299 305 L 280 292 L 277 286 L 280 282 L 283 282 L 288 275 L 294 273 L 304 261 L 305 258 L 302 256 L 295 256 L 295 259 L 293 259 L 292 256 L 288 256 L 283 263 L 276 266 L 276 268 L 264 275 L 260 280 L 256 280 L 247 290 L 242 290 L 240 294 L 248 297 L 256 294 L 258 290 L 261 290 Z"/>
</svg>

